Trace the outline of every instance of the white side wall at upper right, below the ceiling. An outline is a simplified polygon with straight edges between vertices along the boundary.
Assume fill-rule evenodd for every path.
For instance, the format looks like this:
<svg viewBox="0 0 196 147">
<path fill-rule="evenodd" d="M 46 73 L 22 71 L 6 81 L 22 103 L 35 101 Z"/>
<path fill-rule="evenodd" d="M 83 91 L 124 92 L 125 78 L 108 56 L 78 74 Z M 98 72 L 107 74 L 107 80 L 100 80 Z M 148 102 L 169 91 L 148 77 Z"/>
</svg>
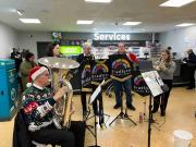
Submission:
<svg viewBox="0 0 196 147">
<path fill-rule="evenodd" d="M 172 47 L 173 52 L 184 52 L 188 48 L 196 50 L 196 26 L 179 28 L 161 33 L 161 47 Z"/>
</svg>

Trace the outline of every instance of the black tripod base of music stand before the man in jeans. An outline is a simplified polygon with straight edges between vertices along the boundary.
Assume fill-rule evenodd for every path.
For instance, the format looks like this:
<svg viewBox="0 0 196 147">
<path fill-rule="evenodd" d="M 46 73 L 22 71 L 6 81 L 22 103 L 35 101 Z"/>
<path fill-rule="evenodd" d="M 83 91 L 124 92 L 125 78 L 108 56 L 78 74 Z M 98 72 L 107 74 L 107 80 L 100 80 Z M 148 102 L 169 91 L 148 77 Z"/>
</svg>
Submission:
<svg viewBox="0 0 196 147">
<path fill-rule="evenodd" d="M 122 96 L 122 95 L 121 95 Z M 128 120 L 131 121 L 133 124 L 137 125 L 136 122 L 134 122 L 130 115 L 127 114 L 127 108 L 125 108 L 125 113 L 123 112 L 123 97 L 122 97 L 122 106 L 121 106 L 121 112 L 111 121 L 111 123 L 109 125 L 111 125 L 115 120 L 118 119 L 123 119 L 123 120 Z"/>
</svg>

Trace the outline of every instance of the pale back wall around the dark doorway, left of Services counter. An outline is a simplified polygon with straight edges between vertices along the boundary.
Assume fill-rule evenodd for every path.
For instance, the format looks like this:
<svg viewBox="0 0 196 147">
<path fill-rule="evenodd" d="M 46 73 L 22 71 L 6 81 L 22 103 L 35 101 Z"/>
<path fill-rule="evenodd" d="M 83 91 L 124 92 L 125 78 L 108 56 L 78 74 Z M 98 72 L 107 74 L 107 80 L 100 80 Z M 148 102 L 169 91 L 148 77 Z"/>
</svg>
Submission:
<svg viewBox="0 0 196 147">
<path fill-rule="evenodd" d="M 28 49 L 37 59 L 37 41 L 51 41 L 49 32 L 20 32 L 19 46 L 21 49 Z"/>
</svg>

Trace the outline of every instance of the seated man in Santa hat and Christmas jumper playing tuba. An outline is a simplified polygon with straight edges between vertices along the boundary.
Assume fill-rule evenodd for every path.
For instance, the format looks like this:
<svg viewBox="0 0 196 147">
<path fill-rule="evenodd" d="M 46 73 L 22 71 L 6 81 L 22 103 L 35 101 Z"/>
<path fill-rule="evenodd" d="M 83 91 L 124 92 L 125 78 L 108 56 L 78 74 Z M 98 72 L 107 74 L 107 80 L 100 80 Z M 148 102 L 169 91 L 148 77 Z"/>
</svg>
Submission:
<svg viewBox="0 0 196 147">
<path fill-rule="evenodd" d="M 40 144 L 60 145 L 61 147 L 84 147 L 85 125 L 83 122 L 71 122 L 70 130 L 57 128 L 53 125 L 52 108 L 66 93 L 60 88 L 53 96 L 46 86 L 50 74 L 45 66 L 35 66 L 28 75 L 28 86 L 23 93 L 23 110 L 30 138 Z"/>
</svg>

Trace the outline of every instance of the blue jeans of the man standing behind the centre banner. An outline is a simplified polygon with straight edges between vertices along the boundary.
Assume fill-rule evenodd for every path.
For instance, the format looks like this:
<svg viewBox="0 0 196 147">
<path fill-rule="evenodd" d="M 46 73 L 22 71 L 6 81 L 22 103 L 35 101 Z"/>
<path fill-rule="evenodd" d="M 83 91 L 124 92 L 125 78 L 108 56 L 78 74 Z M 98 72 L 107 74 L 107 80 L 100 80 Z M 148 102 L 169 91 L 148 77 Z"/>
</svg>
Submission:
<svg viewBox="0 0 196 147">
<path fill-rule="evenodd" d="M 122 106 L 122 94 L 123 90 L 126 96 L 126 106 L 132 105 L 132 94 L 131 94 L 131 79 L 125 82 L 113 81 L 114 94 L 115 94 L 115 102 L 118 106 Z"/>
</svg>

